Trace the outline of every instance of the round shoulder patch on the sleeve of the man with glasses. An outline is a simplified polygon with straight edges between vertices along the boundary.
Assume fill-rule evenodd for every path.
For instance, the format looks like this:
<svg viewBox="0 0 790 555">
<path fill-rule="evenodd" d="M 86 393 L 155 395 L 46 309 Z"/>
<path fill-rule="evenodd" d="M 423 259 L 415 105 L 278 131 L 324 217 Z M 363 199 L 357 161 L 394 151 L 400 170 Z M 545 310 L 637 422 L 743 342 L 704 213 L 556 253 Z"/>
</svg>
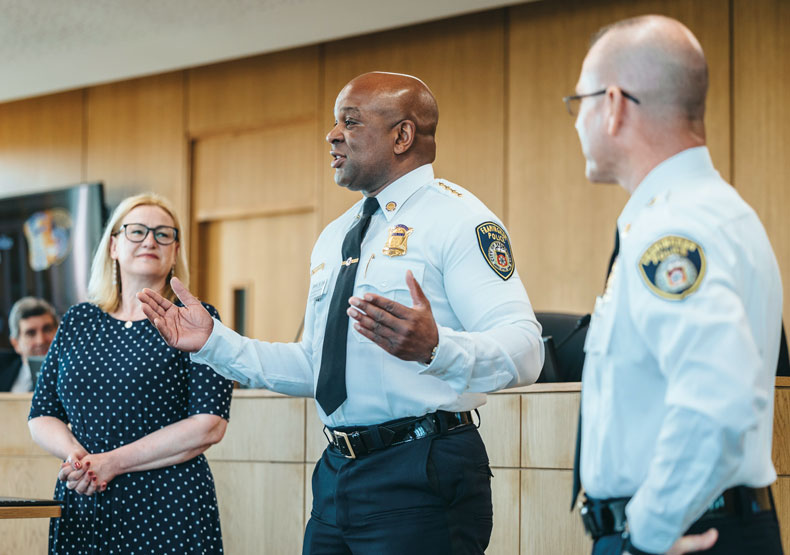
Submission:
<svg viewBox="0 0 790 555">
<path fill-rule="evenodd" d="M 699 289 L 705 276 L 705 252 L 691 239 L 667 235 L 642 254 L 639 273 L 653 293 L 680 301 Z"/>
</svg>

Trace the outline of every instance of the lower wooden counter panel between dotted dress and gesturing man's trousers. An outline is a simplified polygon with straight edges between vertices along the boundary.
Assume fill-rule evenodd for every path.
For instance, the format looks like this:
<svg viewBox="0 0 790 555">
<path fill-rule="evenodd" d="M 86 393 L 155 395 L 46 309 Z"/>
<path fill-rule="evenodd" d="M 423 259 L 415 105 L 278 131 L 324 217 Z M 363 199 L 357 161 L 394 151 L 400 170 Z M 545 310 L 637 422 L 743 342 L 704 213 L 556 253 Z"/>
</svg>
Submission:
<svg viewBox="0 0 790 555">
<path fill-rule="evenodd" d="M 301 552 L 303 464 L 212 461 L 211 468 L 226 553 Z"/>
</svg>

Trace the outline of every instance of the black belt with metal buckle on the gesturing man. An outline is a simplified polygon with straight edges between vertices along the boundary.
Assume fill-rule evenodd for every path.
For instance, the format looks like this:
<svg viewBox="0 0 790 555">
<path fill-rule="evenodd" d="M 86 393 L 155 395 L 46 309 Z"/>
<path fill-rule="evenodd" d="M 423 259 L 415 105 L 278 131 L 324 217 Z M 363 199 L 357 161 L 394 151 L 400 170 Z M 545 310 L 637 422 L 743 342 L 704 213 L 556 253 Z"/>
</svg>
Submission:
<svg viewBox="0 0 790 555">
<path fill-rule="evenodd" d="M 361 428 L 324 428 L 329 444 L 349 459 L 473 424 L 470 412 L 437 411 Z"/>
</svg>

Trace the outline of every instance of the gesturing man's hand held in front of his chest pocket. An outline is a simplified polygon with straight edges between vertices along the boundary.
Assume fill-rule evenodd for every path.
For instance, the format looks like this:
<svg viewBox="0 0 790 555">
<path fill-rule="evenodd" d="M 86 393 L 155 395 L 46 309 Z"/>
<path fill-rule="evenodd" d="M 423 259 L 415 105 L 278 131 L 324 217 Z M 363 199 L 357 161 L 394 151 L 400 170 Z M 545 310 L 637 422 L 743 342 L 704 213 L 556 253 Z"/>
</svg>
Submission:
<svg viewBox="0 0 790 555">
<path fill-rule="evenodd" d="M 433 319 L 431 303 L 414 279 L 406 272 L 412 308 L 368 293 L 364 299 L 351 297 L 348 315 L 356 320 L 354 329 L 376 345 L 402 360 L 429 363 L 433 348 L 439 344 L 439 330 Z"/>
</svg>

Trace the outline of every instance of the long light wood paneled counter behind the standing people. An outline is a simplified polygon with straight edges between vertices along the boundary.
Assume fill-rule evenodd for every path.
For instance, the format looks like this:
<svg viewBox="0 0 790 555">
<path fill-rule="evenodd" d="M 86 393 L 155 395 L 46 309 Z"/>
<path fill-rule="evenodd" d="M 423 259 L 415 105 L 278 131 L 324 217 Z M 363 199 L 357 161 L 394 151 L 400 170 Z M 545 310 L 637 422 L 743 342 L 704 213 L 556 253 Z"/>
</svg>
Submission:
<svg viewBox="0 0 790 555">
<path fill-rule="evenodd" d="M 790 378 L 777 378 L 774 494 L 790 553 Z M 588 553 L 570 513 L 580 384 L 536 384 L 488 397 L 480 432 L 494 473 L 489 554 Z M 30 394 L 0 393 L 0 483 L 4 495 L 52 495 L 59 461 L 30 440 Z M 310 478 L 326 439 L 312 399 L 236 390 L 225 439 L 207 451 L 229 555 L 300 553 L 310 511 Z M 4 553 L 43 553 L 47 521 L 0 522 Z"/>
</svg>

